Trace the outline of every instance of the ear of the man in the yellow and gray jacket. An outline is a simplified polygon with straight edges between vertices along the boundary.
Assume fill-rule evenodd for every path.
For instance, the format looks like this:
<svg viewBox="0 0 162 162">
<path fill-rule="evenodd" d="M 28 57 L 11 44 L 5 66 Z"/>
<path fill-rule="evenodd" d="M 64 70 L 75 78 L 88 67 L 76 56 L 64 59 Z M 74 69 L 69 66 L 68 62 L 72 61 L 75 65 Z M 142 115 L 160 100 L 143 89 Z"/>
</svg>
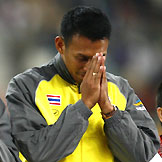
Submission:
<svg viewBox="0 0 162 162">
<path fill-rule="evenodd" d="M 64 43 L 64 39 L 61 36 L 57 36 L 55 38 L 55 46 L 56 46 L 57 51 L 60 54 L 64 54 L 64 51 L 65 51 L 65 43 Z"/>
</svg>

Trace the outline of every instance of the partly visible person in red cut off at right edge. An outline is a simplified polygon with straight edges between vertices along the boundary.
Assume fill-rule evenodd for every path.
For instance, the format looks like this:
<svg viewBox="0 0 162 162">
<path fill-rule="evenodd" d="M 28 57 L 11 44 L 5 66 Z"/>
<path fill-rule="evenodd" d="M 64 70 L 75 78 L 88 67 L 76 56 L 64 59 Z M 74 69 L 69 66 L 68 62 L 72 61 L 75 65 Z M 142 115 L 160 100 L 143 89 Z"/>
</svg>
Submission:
<svg viewBox="0 0 162 162">
<path fill-rule="evenodd" d="M 162 82 L 160 83 L 157 90 L 156 103 L 157 103 L 157 115 L 159 117 L 160 122 L 162 123 Z M 162 135 L 160 136 L 160 148 L 158 153 L 162 157 Z"/>
</svg>

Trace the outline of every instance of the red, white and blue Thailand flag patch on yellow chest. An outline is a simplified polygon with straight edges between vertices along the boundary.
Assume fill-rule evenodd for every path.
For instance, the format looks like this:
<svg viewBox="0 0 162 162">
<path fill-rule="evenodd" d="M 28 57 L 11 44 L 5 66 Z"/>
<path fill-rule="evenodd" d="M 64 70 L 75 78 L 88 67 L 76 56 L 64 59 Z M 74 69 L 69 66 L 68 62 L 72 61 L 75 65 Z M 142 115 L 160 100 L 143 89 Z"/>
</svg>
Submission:
<svg viewBox="0 0 162 162">
<path fill-rule="evenodd" d="M 61 106 L 61 96 L 60 95 L 47 95 L 48 102 L 50 105 Z"/>
</svg>

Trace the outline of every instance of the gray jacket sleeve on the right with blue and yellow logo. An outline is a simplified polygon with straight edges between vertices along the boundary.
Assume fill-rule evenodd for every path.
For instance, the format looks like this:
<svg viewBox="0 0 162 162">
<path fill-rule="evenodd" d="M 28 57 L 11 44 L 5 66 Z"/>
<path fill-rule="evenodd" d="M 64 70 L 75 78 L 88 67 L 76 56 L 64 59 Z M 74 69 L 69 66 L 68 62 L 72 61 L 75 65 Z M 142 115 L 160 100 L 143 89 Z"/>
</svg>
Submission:
<svg viewBox="0 0 162 162">
<path fill-rule="evenodd" d="M 159 135 L 154 121 L 127 81 L 124 81 L 127 106 L 105 120 L 104 130 L 115 158 L 120 162 L 148 162 L 157 153 Z M 122 86 L 123 87 L 123 86 Z"/>
</svg>

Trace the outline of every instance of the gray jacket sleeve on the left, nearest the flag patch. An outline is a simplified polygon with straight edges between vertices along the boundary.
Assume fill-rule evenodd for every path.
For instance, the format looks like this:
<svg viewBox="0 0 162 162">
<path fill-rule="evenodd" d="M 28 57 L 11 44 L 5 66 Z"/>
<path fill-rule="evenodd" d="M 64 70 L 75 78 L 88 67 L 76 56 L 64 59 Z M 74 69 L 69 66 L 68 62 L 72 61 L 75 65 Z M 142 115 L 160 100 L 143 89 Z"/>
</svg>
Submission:
<svg viewBox="0 0 162 162">
<path fill-rule="evenodd" d="M 20 86 L 15 80 L 10 82 L 6 98 L 15 143 L 30 162 L 55 162 L 71 154 L 85 133 L 92 114 L 79 100 L 67 106 L 53 125 L 47 125 L 31 102 L 25 85 Z"/>
</svg>

